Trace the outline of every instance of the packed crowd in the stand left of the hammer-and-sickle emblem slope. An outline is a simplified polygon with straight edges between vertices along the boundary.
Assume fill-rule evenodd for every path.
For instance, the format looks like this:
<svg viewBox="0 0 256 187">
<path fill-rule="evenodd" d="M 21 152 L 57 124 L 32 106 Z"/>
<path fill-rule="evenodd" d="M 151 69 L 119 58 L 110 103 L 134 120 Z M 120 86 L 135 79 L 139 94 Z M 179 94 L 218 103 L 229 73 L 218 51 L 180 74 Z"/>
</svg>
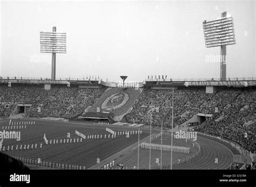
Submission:
<svg viewBox="0 0 256 187">
<path fill-rule="evenodd" d="M 0 85 L 0 116 L 9 117 L 17 104 L 31 104 L 26 116 L 72 118 L 91 106 L 104 89 L 78 88 L 77 85 L 6 84 Z"/>
</svg>

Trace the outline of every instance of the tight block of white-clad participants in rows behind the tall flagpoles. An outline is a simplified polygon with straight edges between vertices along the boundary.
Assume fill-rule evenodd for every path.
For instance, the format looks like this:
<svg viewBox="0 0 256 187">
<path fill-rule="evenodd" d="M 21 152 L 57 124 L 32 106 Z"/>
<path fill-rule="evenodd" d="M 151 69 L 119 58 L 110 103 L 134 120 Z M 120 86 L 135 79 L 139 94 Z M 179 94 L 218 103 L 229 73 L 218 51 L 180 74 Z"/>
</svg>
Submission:
<svg viewBox="0 0 256 187">
<path fill-rule="evenodd" d="M 141 148 L 146 148 L 150 149 L 150 143 L 143 142 L 140 145 Z M 173 152 L 179 152 L 179 153 L 190 153 L 190 147 L 181 147 L 181 146 L 170 146 L 170 145 L 160 145 L 157 143 L 151 143 L 151 149 L 156 149 L 156 150 L 167 150 L 167 151 L 172 151 Z"/>
</svg>

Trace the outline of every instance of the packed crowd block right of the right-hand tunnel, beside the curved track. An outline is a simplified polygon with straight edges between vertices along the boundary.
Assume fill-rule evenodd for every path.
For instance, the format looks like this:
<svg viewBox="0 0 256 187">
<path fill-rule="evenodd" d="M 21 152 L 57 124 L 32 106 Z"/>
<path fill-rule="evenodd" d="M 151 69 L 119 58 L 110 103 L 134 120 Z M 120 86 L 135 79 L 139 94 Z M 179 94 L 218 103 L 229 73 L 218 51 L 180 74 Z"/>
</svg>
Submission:
<svg viewBox="0 0 256 187">
<path fill-rule="evenodd" d="M 255 89 L 242 90 L 229 107 L 224 107 L 218 115 L 208 118 L 196 129 L 232 140 L 255 152 L 255 101 Z"/>
</svg>

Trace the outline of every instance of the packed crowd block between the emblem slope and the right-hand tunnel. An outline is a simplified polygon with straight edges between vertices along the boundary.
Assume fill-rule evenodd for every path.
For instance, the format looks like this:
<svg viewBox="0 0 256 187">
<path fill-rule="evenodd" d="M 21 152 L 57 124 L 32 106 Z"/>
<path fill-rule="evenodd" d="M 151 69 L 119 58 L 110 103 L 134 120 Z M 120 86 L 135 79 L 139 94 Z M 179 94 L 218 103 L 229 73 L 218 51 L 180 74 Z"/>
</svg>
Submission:
<svg viewBox="0 0 256 187">
<path fill-rule="evenodd" d="M 173 122 L 176 125 L 193 117 L 199 112 L 201 104 L 210 99 L 210 96 L 205 94 L 205 88 L 180 88 L 173 93 Z M 172 90 L 144 89 L 133 110 L 125 116 L 125 120 L 149 124 L 151 113 L 153 125 L 159 125 L 162 119 L 164 126 L 171 125 Z"/>
</svg>

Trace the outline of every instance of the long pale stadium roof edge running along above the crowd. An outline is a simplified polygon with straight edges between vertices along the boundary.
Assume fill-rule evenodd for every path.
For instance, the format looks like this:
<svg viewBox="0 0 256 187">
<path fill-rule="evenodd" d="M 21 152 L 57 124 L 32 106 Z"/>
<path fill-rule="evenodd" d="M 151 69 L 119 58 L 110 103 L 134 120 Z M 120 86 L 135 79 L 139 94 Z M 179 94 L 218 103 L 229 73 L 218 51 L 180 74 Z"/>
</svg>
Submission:
<svg viewBox="0 0 256 187">
<path fill-rule="evenodd" d="M 102 79 L 36 79 L 36 78 L 13 78 L 13 77 L 0 77 L 0 83 L 18 83 L 18 84 L 68 84 L 80 86 L 94 86 L 94 87 L 120 87 L 119 82 L 105 82 Z M 130 84 L 127 81 L 125 84 Z M 243 86 L 256 86 L 256 77 L 243 77 L 243 78 L 228 78 L 226 81 L 219 81 L 218 79 L 203 79 L 203 78 L 180 78 L 180 79 L 147 79 L 142 82 L 132 82 L 132 88 L 142 87 L 176 87 L 176 86 L 228 86 L 228 87 L 243 87 Z M 136 86 L 135 86 L 136 84 Z M 127 86 L 126 86 L 127 87 Z M 129 85 L 128 87 L 129 88 Z"/>
</svg>

